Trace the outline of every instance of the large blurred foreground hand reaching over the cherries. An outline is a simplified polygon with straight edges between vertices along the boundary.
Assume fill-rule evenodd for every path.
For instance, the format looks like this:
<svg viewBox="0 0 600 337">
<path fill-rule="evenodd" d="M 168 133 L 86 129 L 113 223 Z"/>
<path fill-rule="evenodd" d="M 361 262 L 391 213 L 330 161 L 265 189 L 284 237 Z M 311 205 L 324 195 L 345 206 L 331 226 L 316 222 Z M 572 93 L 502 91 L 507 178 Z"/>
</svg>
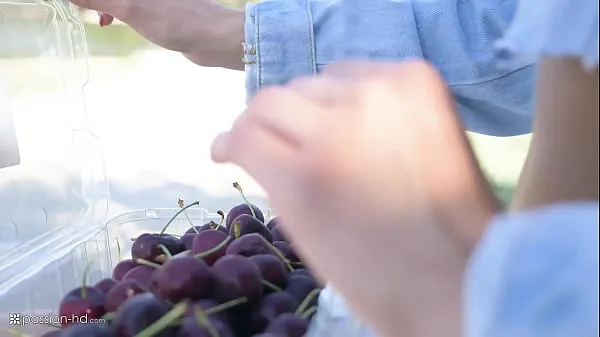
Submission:
<svg viewBox="0 0 600 337">
<path fill-rule="evenodd" d="M 263 186 L 382 335 L 460 335 L 463 270 L 496 204 L 433 68 L 345 63 L 266 88 L 212 153 Z"/>
</svg>

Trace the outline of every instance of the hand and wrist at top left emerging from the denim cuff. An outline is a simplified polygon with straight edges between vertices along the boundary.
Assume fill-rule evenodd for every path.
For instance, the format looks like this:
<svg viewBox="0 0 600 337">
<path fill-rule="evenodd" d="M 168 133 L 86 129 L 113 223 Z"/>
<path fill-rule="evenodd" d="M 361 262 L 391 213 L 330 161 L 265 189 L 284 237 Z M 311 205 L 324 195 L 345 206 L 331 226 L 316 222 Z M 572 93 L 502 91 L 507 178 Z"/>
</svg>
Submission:
<svg viewBox="0 0 600 337">
<path fill-rule="evenodd" d="M 100 24 L 115 17 L 148 40 L 210 67 L 243 70 L 244 13 L 211 0 L 71 0 L 96 10 Z"/>
</svg>

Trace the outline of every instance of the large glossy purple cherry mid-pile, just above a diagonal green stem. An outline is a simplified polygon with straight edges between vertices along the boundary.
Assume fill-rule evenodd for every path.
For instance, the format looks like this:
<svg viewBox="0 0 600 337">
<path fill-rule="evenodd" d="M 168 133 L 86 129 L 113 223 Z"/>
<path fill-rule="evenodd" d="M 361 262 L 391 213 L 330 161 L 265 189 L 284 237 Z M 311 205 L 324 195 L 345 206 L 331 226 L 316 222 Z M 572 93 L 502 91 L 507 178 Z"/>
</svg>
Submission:
<svg viewBox="0 0 600 337">
<path fill-rule="evenodd" d="M 152 289 L 173 303 L 183 299 L 208 298 L 213 291 L 210 267 L 201 259 L 187 255 L 168 260 L 156 270 Z"/>
</svg>

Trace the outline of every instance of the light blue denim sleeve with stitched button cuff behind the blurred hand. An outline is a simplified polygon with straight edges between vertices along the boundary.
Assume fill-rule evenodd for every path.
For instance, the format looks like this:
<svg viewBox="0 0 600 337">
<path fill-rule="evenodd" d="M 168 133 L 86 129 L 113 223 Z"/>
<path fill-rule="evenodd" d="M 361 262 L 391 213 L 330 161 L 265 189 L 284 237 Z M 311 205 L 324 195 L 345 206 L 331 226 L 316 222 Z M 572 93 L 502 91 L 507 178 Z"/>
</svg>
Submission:
<svg viewBox="0 0 600 337">
<path fill-rule="evenodd" d="M 531 132 L 535 67 L 498 67 L 494 48 L 516 0 L 263 0 L 246 11 L 246 88 L 316 74 L 344 59 L 434 64 L 465 128 L 493 136 Z"/>
</svg>

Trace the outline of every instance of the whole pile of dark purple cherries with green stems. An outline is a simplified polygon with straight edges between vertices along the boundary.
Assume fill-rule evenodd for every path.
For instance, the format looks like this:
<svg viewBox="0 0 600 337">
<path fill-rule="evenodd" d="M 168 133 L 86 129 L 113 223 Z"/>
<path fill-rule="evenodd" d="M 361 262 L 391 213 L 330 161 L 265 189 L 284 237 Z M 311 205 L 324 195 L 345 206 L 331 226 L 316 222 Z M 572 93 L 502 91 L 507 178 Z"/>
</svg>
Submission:
<svg viewBox="0 0 600 337">
<path fill-rule="evenodd" d="M 321 285 L 294 253 L 277 218 L 248 202 L 221 223 L 194 226 L 181 236 L 145 233 L 133 240 L 131 259 L 112 278 L 70 291 L 59 308 L 61 337 L 301 337 Z M 187 214 L 185 214 L 187 216 Z M 188 217 L 189 220 L 189 217 Z M 89 323 L 102 318 L 103 323 Z"/>
</svg>

